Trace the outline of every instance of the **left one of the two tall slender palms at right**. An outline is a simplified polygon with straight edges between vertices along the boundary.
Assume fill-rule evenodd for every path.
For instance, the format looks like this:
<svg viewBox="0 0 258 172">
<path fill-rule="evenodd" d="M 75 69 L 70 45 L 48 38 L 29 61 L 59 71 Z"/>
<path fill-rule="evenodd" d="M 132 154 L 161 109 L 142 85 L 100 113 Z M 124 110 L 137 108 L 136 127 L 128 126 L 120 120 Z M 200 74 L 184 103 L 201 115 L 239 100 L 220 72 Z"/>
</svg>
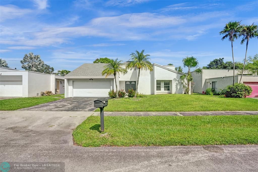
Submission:
<svg viewBox="0 0 258 172">
<path fill-rule="evenodd" d="M 228 38 L 231 41 L 231 49 L 232 49 L 232 59 L 233 59 L 233 85 L 235 83 L 235 61 L 234 61 L 234 53 L 233 53 L 233 42 L 238 38 L 238 33 L 240 32 L 242 26 L 240 25 L 241 21 L 230 21 L 226 24 L 223 30 L 220 31 L 220 35 L 225 34 L 221 40 L 223 41 L 225 38 Z"/>
</svg>

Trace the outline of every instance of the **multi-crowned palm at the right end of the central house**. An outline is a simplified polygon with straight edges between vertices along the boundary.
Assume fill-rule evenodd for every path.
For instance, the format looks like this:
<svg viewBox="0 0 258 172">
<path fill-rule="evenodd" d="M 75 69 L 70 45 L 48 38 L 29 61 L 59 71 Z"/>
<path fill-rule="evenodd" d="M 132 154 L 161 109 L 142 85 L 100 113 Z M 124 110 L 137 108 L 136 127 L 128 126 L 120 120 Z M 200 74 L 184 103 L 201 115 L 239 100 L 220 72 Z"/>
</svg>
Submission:
<svg viewBox="0 0 258 172">
<path fill-rule="evenodd" d="M 186 58 L 183 58 L 183 65 L 184 67 L 188 68 L 188 72 L 187 75 L 184 74 L 182 76 L 180 76 L 180 80 L 182 83 L 185 83 L 186 81 L 186 89 L 185 89 L 185 93 L 188 94 L 189 90 L 190 90 L 190 83 L 193 81 L 193 77 L 191 74 L 191 69 L 192 68 L 196 68 L 193 72 L 195 72 L 196 74 L 201 74 L 203 71 L 201 70 L 201 68 L 198 68 L 199 62 L 197 60 L 197 58 L 191 56 L 188 57 L 186 56 Z"/>
</svg>

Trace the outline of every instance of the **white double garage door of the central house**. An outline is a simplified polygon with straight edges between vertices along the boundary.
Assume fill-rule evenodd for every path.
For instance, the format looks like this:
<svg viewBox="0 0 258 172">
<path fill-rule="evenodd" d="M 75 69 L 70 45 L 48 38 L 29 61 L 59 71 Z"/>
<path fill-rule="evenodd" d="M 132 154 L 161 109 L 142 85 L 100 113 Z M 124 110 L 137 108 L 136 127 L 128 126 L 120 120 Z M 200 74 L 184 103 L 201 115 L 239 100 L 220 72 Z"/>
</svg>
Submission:
<svg viewBox="0 0 258 172">
<path fill-rule="evenodd" d="M 108 97 L 110 81 L 74 81 L 74 97 Z"/>
</svg>

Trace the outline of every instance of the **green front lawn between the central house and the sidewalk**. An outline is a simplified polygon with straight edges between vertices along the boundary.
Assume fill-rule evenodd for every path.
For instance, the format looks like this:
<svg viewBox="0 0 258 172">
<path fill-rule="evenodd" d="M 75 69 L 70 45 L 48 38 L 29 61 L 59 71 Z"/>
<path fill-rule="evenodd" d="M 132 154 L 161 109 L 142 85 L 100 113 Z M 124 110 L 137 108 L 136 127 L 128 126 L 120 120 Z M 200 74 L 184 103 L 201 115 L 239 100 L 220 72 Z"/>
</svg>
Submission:
<svg viewBox="0 0 258 172">
<path fill-rule="evenodd" d="M 225 98 L 195 93 L 147 95 L 145 98 L 110 99 L 104 110 L 113 112 L 258 111 L 258 99 Z M 99 111 L 99 108 L 96 111 Z"/>
</svg>

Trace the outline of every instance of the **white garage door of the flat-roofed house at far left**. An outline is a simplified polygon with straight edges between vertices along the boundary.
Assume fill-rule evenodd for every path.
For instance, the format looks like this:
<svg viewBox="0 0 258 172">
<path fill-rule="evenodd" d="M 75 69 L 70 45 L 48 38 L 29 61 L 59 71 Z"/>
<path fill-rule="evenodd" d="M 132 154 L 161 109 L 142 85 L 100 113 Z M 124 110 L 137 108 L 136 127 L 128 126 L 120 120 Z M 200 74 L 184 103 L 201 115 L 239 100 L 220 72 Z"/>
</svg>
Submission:
<svg viewBox="0 0 258 172">
<path fill-rule="evenodd" d="M 22 81 L 1 81 L 0 97 L 22 97 Z"/>
</svg>

